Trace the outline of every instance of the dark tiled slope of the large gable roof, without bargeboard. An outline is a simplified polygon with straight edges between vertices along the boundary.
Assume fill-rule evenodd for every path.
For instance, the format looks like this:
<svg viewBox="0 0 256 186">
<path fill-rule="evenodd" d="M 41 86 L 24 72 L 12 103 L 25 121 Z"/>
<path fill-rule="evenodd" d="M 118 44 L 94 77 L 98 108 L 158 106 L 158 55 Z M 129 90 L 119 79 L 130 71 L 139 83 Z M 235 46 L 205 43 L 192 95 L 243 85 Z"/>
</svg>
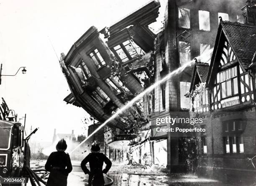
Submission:
<svg viewBox="0 0 256 186">
<path fill-rule="evenodd" d="M 248 69 L 256 51 L 256 27 L 230 22 L 221 22 L 220 25 L 238 60 L 244 69 Z"/>
</svg>

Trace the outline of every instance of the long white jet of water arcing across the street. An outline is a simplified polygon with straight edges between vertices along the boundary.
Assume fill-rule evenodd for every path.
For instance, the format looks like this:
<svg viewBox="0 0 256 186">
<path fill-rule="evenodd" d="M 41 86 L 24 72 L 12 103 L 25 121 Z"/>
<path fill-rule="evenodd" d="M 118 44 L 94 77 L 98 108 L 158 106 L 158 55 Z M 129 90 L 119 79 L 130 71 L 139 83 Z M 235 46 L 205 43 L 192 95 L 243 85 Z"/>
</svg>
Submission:
<svg viewBox="0 0 256 186">
<path fill-rule="evenodd" d="M 204 60 L 204 61 L 210 61 L 211 58 L 211 54 L 212 54 L 212 50 L 210 49 L 209 51 L 203 53 L 201 56 L 198 56 L 197 59 L 200 60 Z M 170 72 L 169 74 L 167 74 L 163 79 L 159 80 L 158 82 L 155 82 L 154 84 L 152 84 L 150 87 L 148 87 L 147 89 L 145 89 L 143 92 L 141 92 L 140 94 L 138 94 L 136 97 L 134 97 L 130 102 L 128 102 L 127 104 L 125 104 L 125 106 L 123 106 L 122 108 L 120 108 L 120 110 L 118 110 L 114 115 L 112 115 L 110 118 L 108 118 L 108 120 L 106 120 L 104 123 L 102 123 L 95 131 L 93 131 L 90 135 L 88 135 L 87 138 L 85 138 L 81 143 L 79 143 L 79 145 L 77 145 L 76 148 L 74 148 L 71 152 L 73 153 L 77 148 L 79 148 L 84 142 L 87 141 L 87 139 L 89 139 L 90 137 L 92 137 L 92 135 L 94 135 L 96 132 L 98 132 L 102 127 L 104 127 L 108 122 L 110 122 L 111 120 L 115 119 L 115 117 L 117 117 L 119 114 L 121 114 L 123 111 L 125 111 L 126 109 L 128 109 L 129 107 L 131 107 L 133 105 L 133 103 L 137 102 L 138 100 L 140 100 L 141 98 L 143 98 L 143 96 L 145 96 L 146 94 L 148 94 L 149 92 L 151 92 L 152 90 L 154 90 L 159 84 L 166 82 L 168 79 L 170 79 L 172 76 L 179 74 L 180 72 L 184 71 L 184 69 L 186 69 L 188 66 L 192 66 L 195 63 L 194 60 L 189 61 L 185 64 L 183 64 L 181 67 L 179 67 L 178 69 Z"/>
</svg>

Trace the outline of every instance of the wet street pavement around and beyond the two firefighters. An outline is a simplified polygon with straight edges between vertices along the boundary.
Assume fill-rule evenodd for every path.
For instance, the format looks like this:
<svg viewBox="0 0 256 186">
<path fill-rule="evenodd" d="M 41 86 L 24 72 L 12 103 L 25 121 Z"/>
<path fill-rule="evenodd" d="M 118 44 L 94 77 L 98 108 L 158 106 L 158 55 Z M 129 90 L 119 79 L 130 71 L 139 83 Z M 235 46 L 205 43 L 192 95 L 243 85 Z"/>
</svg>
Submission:
<svg viewBox="0 0 256 186">
<path fill-rule="evenodd" d="M 43 168 L 45 161 L 31 163 L 32 168 Z M 81 172 L 79 162 L 72 162 L 73 171 L 68 176 L 68 186 L 86 186 L 88 175 Z M 198 178 L 190 174 L 167 174 L 155 171 L 154 168 L 135 168 L 133 166 L 114 165 L 108 177 L 113 180 L 113 186 L 231 186 L 208 178 Z M 110 170 L 111 170 L 110 169 Z M 154 171 L 154 172 L 153 172 Z M 124 173 L 126 172 L 126 173 Z M 153 174 L 154 173 L 154 174 Z M 110 179 L 105 177 L 106 183 Z M 31 186 L 28 183 L 27 186 Z"/>
</svg>

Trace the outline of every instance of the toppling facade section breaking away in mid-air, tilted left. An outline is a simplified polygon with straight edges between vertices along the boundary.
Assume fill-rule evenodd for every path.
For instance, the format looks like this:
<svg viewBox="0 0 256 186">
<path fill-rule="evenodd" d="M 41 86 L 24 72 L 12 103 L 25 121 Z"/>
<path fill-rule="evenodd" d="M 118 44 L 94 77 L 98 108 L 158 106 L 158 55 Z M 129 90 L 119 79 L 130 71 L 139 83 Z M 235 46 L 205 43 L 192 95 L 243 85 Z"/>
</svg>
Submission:
<svg viewBox="0 0 256 186">
<path fill-rule="evenodd" d="M 92 26 L 66 56 L 61 54 L 61 68 L 72 92 L 64 99 L 67 103 L 103 123 L 142 91 L 154 75 L 156 35 L 148 25 L 156 21 L 159 7 L 153 0 L 100 32 Z M 108 122 L 105 143 L 137 138 L 148 123 L 143 110 L 141 100 Z"/>
</svg>

